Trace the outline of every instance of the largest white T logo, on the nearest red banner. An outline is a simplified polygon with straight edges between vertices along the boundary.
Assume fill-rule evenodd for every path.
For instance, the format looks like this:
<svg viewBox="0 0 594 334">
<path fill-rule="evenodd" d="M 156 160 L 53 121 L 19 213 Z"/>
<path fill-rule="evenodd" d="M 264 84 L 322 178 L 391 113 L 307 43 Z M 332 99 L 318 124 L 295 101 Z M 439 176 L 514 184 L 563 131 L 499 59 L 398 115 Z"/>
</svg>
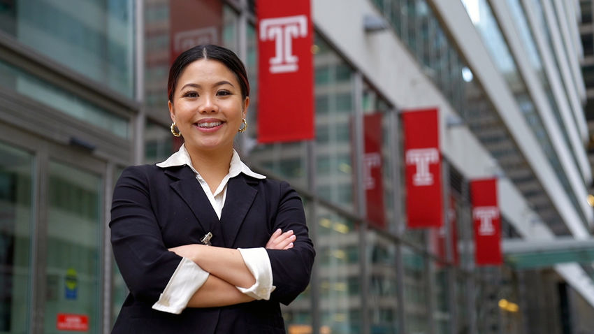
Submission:
<svg viewBox="0 0 594 334">
<path fill-rule="evenodd" d="M 298 58 L 293 55 L 293 38 L 307 36 L 305 15 L 275 17 L 260 21 L 260 40 L 275 41 L 275 57 L 270 58 L 270 73 L 296 72 Z"/>
</svg>

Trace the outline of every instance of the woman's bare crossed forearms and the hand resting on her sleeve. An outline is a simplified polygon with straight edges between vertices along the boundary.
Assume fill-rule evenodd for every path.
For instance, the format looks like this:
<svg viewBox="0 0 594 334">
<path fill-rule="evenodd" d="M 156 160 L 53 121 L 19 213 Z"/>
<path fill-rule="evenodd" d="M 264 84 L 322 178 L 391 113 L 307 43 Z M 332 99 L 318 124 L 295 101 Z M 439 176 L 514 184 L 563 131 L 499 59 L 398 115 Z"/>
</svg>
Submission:
<svg viewBox="0 0 594 334">
<path fill-rule="evenodd" d="M 291 249 L 296 236 L 293 231 L 277 229 L 266 243 L 267 249 Z M 183 245 L 171 252 L 194 261 L 210 273 L 206 282 L 189 300 L 187 307 L 218 307 L 254 300 L 236 286 L 248 288 L 256 279 L 245 265 L 238 249 L 205 245 Z"/>
</svg>

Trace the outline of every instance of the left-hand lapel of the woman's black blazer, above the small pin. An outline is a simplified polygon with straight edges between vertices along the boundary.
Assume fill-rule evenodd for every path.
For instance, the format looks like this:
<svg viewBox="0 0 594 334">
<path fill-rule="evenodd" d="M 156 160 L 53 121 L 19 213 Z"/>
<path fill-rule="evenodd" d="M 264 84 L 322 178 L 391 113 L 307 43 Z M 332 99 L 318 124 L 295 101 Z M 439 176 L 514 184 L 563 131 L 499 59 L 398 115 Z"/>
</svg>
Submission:
<svg viewBox="0 0 594 334">
<path fill-rule="evenodd" d="M 215 209 L 212 208 L 210 201 L 208 201 L 208 197 L 204 194 L 200 182 L 196 180 L 194 172 L 189 167 L 183 166 L 182 168 L 167 168 L 165 173 L 178 179 L 171 182 L 171 188 L 189 206 L 203 231 L 205 233 L 212 231 L 213 237 L 211 242 L 214 244 L 215 238 L 217 236 L 220 238 L 221 234 L 219 231 L 213 231 L 213 228 L 217 228 L 219 225 L 219 217 L 217 217 Z M 200 238 L 202 238 L 202 235 Z"/>
</svg>

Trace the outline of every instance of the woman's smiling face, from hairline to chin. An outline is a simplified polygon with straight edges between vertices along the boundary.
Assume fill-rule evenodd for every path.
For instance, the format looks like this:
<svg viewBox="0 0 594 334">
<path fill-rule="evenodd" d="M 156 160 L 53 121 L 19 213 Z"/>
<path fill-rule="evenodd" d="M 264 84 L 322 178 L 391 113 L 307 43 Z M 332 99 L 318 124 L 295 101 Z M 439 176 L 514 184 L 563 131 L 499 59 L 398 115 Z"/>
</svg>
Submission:
<svg viewBox="0 0 594 334">
<path fill-rule="evenodd" d="M 222 62 L 199 59 L 178 78 L 169 101 L 171 119 L 188 150 L 231 150 L 245 117 L 249 98 L 242 99 L 236 75 Z"/>
</svg>

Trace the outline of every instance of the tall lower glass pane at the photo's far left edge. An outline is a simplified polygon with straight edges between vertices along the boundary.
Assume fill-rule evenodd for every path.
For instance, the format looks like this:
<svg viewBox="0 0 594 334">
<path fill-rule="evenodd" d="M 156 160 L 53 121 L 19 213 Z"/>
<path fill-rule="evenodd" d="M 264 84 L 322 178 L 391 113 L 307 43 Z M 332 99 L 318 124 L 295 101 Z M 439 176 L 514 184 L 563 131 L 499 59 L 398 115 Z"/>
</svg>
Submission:
<svg viewBox="0 0 594 334">
<path fill-rule="evenodd" d="M 29 333 L 34 159 L 3 143 L 0 157 L 0 333 Z"/>
</svg>

